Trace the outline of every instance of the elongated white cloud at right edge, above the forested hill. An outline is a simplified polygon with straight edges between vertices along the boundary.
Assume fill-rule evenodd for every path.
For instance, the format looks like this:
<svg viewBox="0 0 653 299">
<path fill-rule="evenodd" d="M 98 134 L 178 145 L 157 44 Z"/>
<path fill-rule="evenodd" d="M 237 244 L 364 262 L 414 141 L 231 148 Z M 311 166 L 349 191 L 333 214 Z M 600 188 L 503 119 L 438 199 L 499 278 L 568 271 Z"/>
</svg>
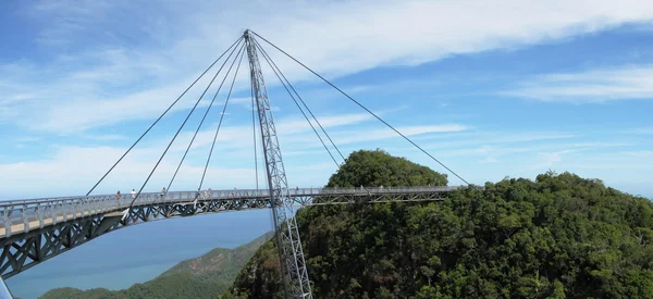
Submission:
<svg viewBox="0 0 653 299">
<path fill-rule="evenodd" d="M 653 99 L 653 66 L 590 70 L 551 74 L 526 82 L 504 95 L 560 102 Z"/>
</svg>

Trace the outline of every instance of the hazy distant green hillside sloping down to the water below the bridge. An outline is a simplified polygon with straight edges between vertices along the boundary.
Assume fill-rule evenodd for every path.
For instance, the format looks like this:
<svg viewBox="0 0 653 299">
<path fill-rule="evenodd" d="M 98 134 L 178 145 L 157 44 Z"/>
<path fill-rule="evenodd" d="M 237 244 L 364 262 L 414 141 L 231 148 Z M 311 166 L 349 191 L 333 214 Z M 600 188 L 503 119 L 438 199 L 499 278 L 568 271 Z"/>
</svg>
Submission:
<svg viewBox="0 0 653 299">
<path fill-rule="evenodd" d="M 136 298 L 210 298 L 232 285 L 234 277 L 256 252 L 273 236 L 268 233 L 235 249 L 217 248 L 208 253 L 183 261 L 159 277 L 128 289 L 108 290 L 96 288 L 79 290 L 58 288 L 46 292 L 40 299 L 136 299 Z"/>
</svg>

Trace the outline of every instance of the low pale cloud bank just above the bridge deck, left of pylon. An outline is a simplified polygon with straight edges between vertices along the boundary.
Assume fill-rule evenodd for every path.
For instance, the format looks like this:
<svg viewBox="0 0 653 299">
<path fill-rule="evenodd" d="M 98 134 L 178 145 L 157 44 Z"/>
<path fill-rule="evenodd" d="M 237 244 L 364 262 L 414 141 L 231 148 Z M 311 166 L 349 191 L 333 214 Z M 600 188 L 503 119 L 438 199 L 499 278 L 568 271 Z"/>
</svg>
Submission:
<svg viewBox="0 0 653 299">
<path fill-rule="evenodd" d="M 86 194 L 107 170 L 120 158 L 124 149 L 111 147 L 60 147 L 52 158 L 41 161 L 17 162 L 0 165 L 3 198 L 37 198 Z M 134 150 L 106 178 L 94 194 L 138 189 L 155 165 L 160 152 L 155 149 Z M 144 191 L 158 191 L 167 186 L 178 161 L 178 154 L 167 158 L 157 169 Z M 185 163 L 173 188 L 192 190 L 201 177 L 202 166 Z M 222 167 L 212 163 L 207 172 L 207 185 L 218 188 L 250 187 L 254 170 Z M 205 185 L 205 186 L 207 186 Z"/>
</svg>

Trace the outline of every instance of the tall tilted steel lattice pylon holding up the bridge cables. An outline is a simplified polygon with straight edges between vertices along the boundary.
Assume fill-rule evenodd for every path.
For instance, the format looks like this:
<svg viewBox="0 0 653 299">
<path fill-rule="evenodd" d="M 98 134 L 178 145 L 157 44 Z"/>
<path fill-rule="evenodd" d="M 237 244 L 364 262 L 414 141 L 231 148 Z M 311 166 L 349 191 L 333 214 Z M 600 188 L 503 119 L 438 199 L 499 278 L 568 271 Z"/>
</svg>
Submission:
<svg viewBox="0 0 653 299">
<path fill-rule="evenodd" d="M 295 221 L 294 202 L 288 194 L 288 183 L 256 43 L 249 30 L 245 30 L 244 37 L 247 43 L 247 57 L 249 58 L 251 87 L 259 115 L 282 277 L 284 277 L 284 285 L 289 285 L 291 294 L 286 292 L 287 295 L 294 298 L 312 298 L 299 231 Z"/>
</svg>

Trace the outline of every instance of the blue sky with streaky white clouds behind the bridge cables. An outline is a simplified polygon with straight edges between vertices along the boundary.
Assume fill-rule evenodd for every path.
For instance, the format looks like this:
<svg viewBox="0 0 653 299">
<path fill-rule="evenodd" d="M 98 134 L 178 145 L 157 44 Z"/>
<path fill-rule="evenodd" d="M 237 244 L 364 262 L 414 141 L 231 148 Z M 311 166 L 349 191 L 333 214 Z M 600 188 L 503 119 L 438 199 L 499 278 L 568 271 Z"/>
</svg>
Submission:
<svg viewBox="0 0 653 299">
<path fill-rule="evenodd" d="M 241 2 L 1 1 L 0 199 L 86 194 L 247 28 L 469 183 L 568 171 L 653 198 L 650 1 Z M 343 155 L 381 148 L 447 173 L 449 185 L 464 184 L 258 40 Z M 260 53 L 259 59 L 288 184 L 324 185 L 336 164 Z M 144 185 L 223 61 L 94 194 Z M 226 78 L 171 190 L 197 188 L 236 68 L 204 188 L 255 188 L 257 177 L 264 185 L 260 136 L 254 159 L 247 57 L 229 76 L 226 68 L 144 191 L 169 184 Z"/>
</svg>

